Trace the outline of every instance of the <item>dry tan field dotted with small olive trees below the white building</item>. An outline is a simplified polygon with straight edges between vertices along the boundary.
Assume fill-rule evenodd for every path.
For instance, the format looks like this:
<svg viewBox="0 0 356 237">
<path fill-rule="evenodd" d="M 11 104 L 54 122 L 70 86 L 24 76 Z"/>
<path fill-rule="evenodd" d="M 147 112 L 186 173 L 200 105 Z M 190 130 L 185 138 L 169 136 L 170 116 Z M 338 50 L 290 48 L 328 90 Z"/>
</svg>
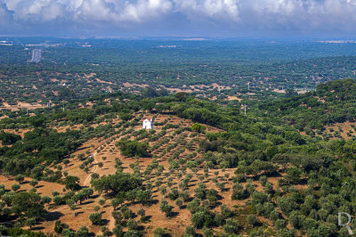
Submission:
<svg viewBox="0 0 356 237">
<path fill-rule="evenodd" d="M 154 147 L 155 149 L 151 151 L 152 158 L 126 158 L 120 154 L 120 151 L 117 147 L 117 142 L 125 136 L 129 139 L 138 138 L 137 133 L 142 130 L 142 126 L 140 122 L 144 118 L 155 118 L 154 121 L 159 126 L 154 127 L 154 134 L 158 134 L 163 131 L 163 127 L 167 125 L 173 125 L 174 127 L 164 129 L 165 135 L 159 137 L 156 141 L 150 141 L 151 134 L 146 138 L 143 138 L 142 142 L 148 142 L 150 147 Z M 225 205 L 228 208 L 231 208 L 232 211 L 240 211 L 241 209 L 246 208 L 245 216 L 251 212 L 249 208 L 247 208 L 247 202 L 251 200 L 248 198 L 247 200 L 231 200 L 232 194 L 232 184 L 231 177 L 234 176 L 233 168 L 215 168 L 209 170 L 205 176 L 203 166 L 198 166 L 198 168 L 188 168 L 182 170 L 180 172 L 174 172 L 171 175 L 166 176 L 166 174 L 170 174 L 170 164 L 169 159 L 172 157 L 178 157 L 179 160 L 188 159 L 188 160 L 196 160 L 201 158 L 202 152 L 199 151 L 198 143 L 199 141 L 205 139 L 205 135 L 198 134 L 190 131 L 190 127 L 193 125 L 193 122 L 190 119 L 180 119 L 176 116 L 168 116 L 162 114 L 135 114 L 135 118 L 139 120 L 139 123 L 134 127 L 127 127 L 126 129 L 121 130 L 115 136 L 108 137 L 106 139 L 91 139 L 80 146 L 77 151 L 70 155 L 68 164 L 57 164 L 54 167 L 51 167 L 53 170 L 61 167 L 62 172 L 68 172 L 69 176 L 77 176 L 80 179 L 80 185 L 83 187 L 91 186 L 91 175 L 93 173 L 98 174 L 99 176 L 107 176 L 113 175 L 116 172 L 115 168 L 115 159 L 119 159 L 122 162 L 122 168 L 125 173 L 134 173 L 134 164 L 138 162 L 138 166 L 142 172 L 144 172 L 151 164 L 154 162 L 153 160 L 157 160 L 159 166 L 163 166 L 165 170 L 161 174 L 153 172 L 150 175 L 150 183 L 154 184 L 152 188 L 152 200 L 148 205 L 142 205 L 142 203 L 138 203 L 136 201 L 126 201 L 126 204 L 134 213 L 137 213 L 140 208 L 145 210 L 145 215 L 147 219 L 142 222 L 141 217 L 136 215 L 134 217 L 140 226 L 142 226 L 142 230 L 148 236 L 153 235 L 153 231 L 161 227 L 166 229 L 167 233 L 170 233 L 172 236 L 182 236 L 185 232 L 185 228 L 187 225 L 191 225 L 190 218 L 191 213 L 187 209 L 187 203 L 194 198 L 194 195 L 189 194 L 186 197 L 186 201 L 183 202 L 182 207 L 177 207 L 174 203 L 174 200 L 167 198 L 167 193 L 172 192 L 172 190 L 176 189 L 178 191 L 182 191 L 182 187 L 179 184 L 182 183 L 182 174 L 184 176 L 191 176 L 188 188 L 185 189 L 188 193 L 194 193 L 194 191 L 198 188 L 199 184 L 205 184 L 206 189 L 214 189 L 218 194 L 218 200 L 216 204 L 214 204 L 214 208 L 212 211 L 219 212 L 220 206 Z M 120 119 L 113 119 L 111 124 L 113 126 L 117 125 L 120 122 Z M 103 122 L 102 125 L 107 124 Z M 91 125 L 88 125 L 91 126 Z M 95 125 L 92 125 L 95 126 Z M 178 128 L 176 128 L 178 127 Z M 67 127 L 70 129 L 78 129 L 77 126 Z M 66 127 L 56 127 L 59 132 L 63 132 L 67 129 Z M 120 127 L 121 128 L 121 127 Z M 117 129 L 120 129 L 117 128 Z M 153 130 L 151 130 L 153 131 Z M 206 132 L 222 132 L 223 130 L 206 126 Z M 14 132 L 12 130 L 6 130 L 6 132 Z M 26 132 L 26 131 L 23 131 Z M 23 132 L 17 132 L 20 135 L 23 135 Z M 140 138 L 139 138 L 140 139 Z M 84 158 L 79 159 L 79 154 L 85 154 Z M 85 171 L 83 168 L 80 168 L 81 164 L 83 164 L 83 160 L 93 157 L 93 162 L 88 165 L 88 170 Z M 101 165 L 99 166 L 99 164 Z M 158 174 L 158 175 L 157 175 Z M 159 186 L 158 186 L 159 180 Z M 31 186 L 28 184 L 30 179 L 26 178 L 21 183 L 20 191 L 29 191 Z M 5 184 L 6 189 L 11 189 L 12 184 L 15 184 L 16 181 L 11 177 L 1 176 L 0 179 L 1 184 Z M 247 184 L 252 184 L 255 187 L 256 191 L 263 191 L 263 185 L 258 181 L 249 181 L 250 183 L 241 183 L 244 187 Z M 277 189 L 277 179 L 276 177 L 269 177 L 268 182 L 270 182 L 273 186 L 273 189 Z M 147 181 L 145 183 L 148 184 Z M 48 182 L 39 182 L 36 186 L 36 192 L 41 196 L 52 196 L 53 192 L 59 192 L 59 195 L 65 195 L 67 192 L 65 186 L 63 184 L 53 184 Z M 161 192 L 162 187 L 166 187 L 166 192 Z M 99 204 L 99 200 L 106 200 L 104 204 Z M 173 215 L 171 217 L 166 217 L 166 214 L 159 210 L 159 203 L 161 200 L 168 200 L 169 205 L 173 206 Z M 53 231 L 53 227 L 56 221 L 61 220 L 61 222 L 69 225 L 69 228 L 73 230 L 79 229 L 80 226 L 85 225 L 89 227 L 90 233 L 100 234 L 101 228 L 97 225 L 92 225 L 89 216 L 94 213 L 95 206 L 100 206 L 100 212 L 102 214 L 102 219 L 106 226 L 108 226 L 109 231 L 112 231 L 115 227 L 115 219 L 111 216 L 111 213 L 114 211 L 114 208 L 110 205 L 110 199 L 107 196 L 94 192 L 93 196 L 89 199 L 83 201 L 81 204 L 77 205 L 75 210 L 69 208 L 67 205 L 54 205 L 53 202 L 46 205 L 46 209 L 48 213 L 44 218 L 44 221 L 39 222 L 36 226 L 32 227 L 32 230 L 41 231 L 47 234 L 55 234 Z M 240 218 L 244 219 L 246 217 L 240 216 Z M 259 218 L 261 225 L 271 225 L 270 221 L 265 218 Z M 244 220 L 245 222 L 245 220 Z M 247 224 L 246 224 L 247 225 Z M 247 227 L 247 226 L 246 226 Z M 127 231 L 125 228 L 124 231 Z M 221 229 L 214 229 L 216 232 L 220 232 Z M 248 233 L 248 228 L 245 229 L 245 232 Z"/>
</svg>

